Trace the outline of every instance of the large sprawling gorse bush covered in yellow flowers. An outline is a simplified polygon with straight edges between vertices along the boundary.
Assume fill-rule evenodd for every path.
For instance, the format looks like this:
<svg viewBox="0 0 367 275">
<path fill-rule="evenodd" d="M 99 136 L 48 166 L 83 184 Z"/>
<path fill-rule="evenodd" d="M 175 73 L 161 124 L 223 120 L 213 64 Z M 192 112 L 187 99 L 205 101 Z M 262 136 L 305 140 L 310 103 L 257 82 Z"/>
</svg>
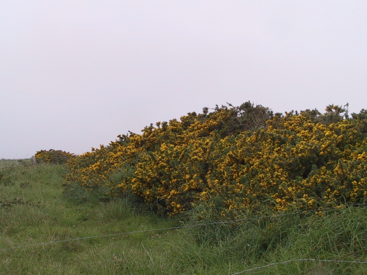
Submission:
<svg viewBox="0 0 367 275">
<path fill-rule="evenodd" d="M 364 201 L 367 111 L 330 105 L 273 114 L 261 105 L 208 108 L 68 162 L 67 184 L 133 193 L 174 216 L 205 202 L 218 216 Z M 199 216 L 200 218 L 200 216 Z"/>
</svg>

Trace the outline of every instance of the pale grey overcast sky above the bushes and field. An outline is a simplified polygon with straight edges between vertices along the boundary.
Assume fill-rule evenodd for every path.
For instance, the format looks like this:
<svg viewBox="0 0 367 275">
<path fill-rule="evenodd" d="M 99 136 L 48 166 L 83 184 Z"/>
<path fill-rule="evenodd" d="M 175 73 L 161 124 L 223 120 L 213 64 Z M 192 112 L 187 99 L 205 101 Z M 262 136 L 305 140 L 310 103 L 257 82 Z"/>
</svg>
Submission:
<svg viewBox="0 0 367 275">
<path fill-rule="evenodd" d="M 246 101 L 367 109 L 367 1 L 0 0 L 0 158 Z"/>
</svg>

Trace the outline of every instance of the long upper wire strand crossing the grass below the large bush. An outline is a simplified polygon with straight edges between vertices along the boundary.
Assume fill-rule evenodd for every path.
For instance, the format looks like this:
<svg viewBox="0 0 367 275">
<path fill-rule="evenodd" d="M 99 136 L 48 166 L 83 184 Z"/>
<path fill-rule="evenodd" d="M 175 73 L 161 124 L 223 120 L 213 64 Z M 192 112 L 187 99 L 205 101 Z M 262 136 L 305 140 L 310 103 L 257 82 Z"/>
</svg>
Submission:
<svg viewBox="0 0 367 275">
<path fill-rule="evenodd" d="M 365 204 L 345 205 L 345 207 L 353 207 L 353 206 L 361 206 L 361 205 L 364 206 Z M 282 217 L 282 216 L 310 213 L 310 212 L 324 212 L 324 211 L 333 210 L 333 209 L 340 210 L 342 208 L 340 208 L 340 206 L 336 206 L 336 207 L 329 207 L 329 208 L 322 208 L 322 209 L 296 211 L 296 212 L 283 213 L 283 214 L 272 214 L 272 215 L 267 215 L 267 216 L 259 216 L 259 217 L 237 219 L 237 220 L 230 220 L 230 221 L 218 221 L 218 222 L 201 223 L 201 224 L 194 224 L 194 225 L 184 225 L 184 226 L 175 226 L 175 227 L 165 227 L 165 228 L 147 229 L 147 230 L 139 230 L 139 231 L 121 232 L 121 233 L 106 234 L 106 235 L 99 235 L 99 236 L 80 237 L 80 238 L 67 239 L 67 240 L 58 240 L 58 241 L 52 241 L 52 242 L 43 242 L 43 243 L 27 244 L 27 245 L 20 245 L 20 246 L 8 247 L 8 248 L 0 248 L 0 251 L 18 249 L 18 248 L 25 248 L 25 247 L 31 247 L 31 246 L 48 245 L 48 244 L 61 243 L 61 242 L 71 242 L 71 241 L 85 240 L 85 239 L 96 239 L 96 238 L 103 238 L 103 237 L 112 237 L 112 236 L 118 236 L 118 235 L 128 235 L 128 234 L 136 234 L 136 233 L 161 231 L 161 230 L 176 230 L 176 229 L 192 228 L 192 227 L 199 227 L 199 226 L 206 226 L 206 225 L 244 222 L 244 221 L 259 220 L 259 219 L 264 219 L 264 218 L 273 218 L 273 217 Z"/>
</svg>

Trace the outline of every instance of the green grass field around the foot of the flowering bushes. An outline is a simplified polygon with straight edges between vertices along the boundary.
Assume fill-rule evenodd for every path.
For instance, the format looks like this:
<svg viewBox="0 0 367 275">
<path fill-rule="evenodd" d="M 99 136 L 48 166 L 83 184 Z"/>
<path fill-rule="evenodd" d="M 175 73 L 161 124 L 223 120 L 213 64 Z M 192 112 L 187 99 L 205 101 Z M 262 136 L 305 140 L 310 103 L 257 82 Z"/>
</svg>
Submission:
<svg viewBox="0 0 367 275">
<path fill-rule="evenodd" d="M 195 217 L 205 206 L 179 220 L 129 197 L 106 203 L 81 194 L 85 202 L 78 202 L 62 193 L 65 172 L 62 165 L 0 162 L 0 274 L 219 275 L 292 259 L 367 261 L 363 207 L 1 250 L 203 222 Z M 300 261 L 247 273 L 367 274 L 367 264 Z"/>
</svg>

